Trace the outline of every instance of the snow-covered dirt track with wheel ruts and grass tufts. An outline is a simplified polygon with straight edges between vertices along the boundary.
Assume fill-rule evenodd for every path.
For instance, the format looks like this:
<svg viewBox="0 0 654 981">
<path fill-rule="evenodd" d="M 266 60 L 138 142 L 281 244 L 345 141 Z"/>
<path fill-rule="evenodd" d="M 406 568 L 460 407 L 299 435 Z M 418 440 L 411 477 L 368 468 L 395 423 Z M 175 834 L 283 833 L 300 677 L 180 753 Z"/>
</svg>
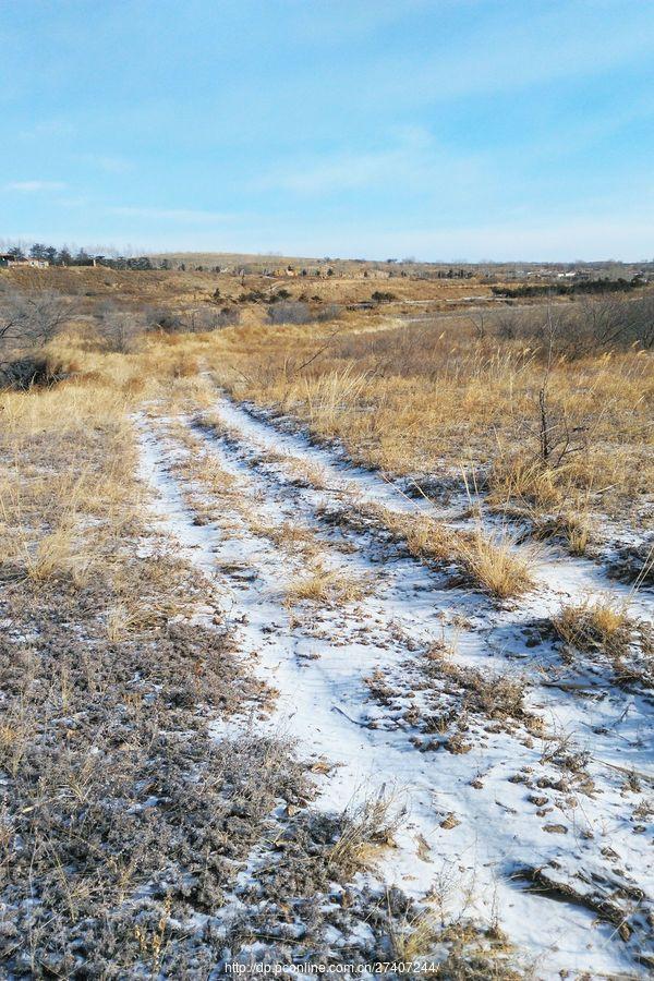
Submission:
<svg viewBox="0 0 654 981">
<path fill-rule="evenodd" d="M 410 512 L 396 487 L 225 399 L 210 421 L 143 419 L 143 475 L 279 692 L 257 725 L 327 761 L 325 809 L 393 797 L 386 882 L 497 918 L 538 978 L 645 977 L 651 704 L 596 670 L 558 687 L 571 671 L 534 640 L 601 571 L 553 557 L 537 596 L 497 607 L 335 521 L 356 501 Z M 507 678 L 523 700 L 498 707 Z"/>
</svg>

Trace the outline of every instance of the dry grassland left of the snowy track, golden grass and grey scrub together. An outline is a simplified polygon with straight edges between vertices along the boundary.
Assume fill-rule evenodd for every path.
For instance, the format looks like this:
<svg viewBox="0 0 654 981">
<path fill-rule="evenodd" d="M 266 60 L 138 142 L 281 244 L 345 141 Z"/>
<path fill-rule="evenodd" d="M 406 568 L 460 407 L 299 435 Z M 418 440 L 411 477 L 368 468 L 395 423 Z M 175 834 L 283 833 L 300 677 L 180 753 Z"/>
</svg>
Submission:
<svg viewBox="0 0 654 981">
<path fill-rule="evenodd" d="M 68 382 L 0 395 L 0 957 L 12 977 L 208 977 L 221 952 L 261 937 L 286 962 L 295 918 L 307 924 L 298 949 L 324 961 L 332 924 L 365 921 L 367 953 L 349 956 L 370 959 L 420 916 L 398 889 L 328 901 L 392 844 L 387 801 L 317 813 L 290 744 L 209 731 L 244 706 L 265 714 L 274 693 L 240 662 L 211 584 L 153 532 L 133 423 L 146 401 L 155 416 L 208 404 L 207 348 L 113 355 L 62 336 L 49 356 Z M 170 434 L 195 459 L 193 435 Z M 206 461 L 197 477 L 233 493 Z M 320 578 L 294 598 L 332 589 L 361 594 Z M 257 881 L 240 884 L 267 849 Z M 223 921 L 234 897 L 243 912 Z M 508 962 L 464 921 L 449 929 L 457 962 Z"/>
</svg>

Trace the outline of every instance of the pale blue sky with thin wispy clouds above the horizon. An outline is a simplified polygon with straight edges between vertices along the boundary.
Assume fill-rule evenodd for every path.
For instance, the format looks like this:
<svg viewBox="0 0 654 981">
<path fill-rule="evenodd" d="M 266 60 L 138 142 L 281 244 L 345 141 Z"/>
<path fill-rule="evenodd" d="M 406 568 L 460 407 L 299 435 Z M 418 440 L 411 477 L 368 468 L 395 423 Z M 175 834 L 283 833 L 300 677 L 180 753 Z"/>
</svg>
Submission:
<svg viewBox="0 0 654 981">
<path fill-rule="evenodd" d="M 651 0 L 0 0 L 0 238 L 654 256 Z"/>
</svg>

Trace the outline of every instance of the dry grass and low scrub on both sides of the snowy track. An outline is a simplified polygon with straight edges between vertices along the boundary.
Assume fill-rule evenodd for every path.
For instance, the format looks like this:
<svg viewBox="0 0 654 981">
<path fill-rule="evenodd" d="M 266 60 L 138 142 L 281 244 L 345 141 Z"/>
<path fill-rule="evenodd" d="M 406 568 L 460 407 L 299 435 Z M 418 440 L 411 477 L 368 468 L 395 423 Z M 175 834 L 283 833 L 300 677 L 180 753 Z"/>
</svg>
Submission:
<svg viewBox="0 0 654 981">
<path fill-rule="evenodd" d="M 69 271 L 53 270 L 55 287 L 60 272 L 70 287 Z M 92 276 L 109 274 L 84 270 Z M 201 274 L 197 283 L 183 279 L 183 291 L 174 277 L 141 276 L 112 272 L 102 290 L 129 303 L 168 291 L 171 304 L 191 302 L 195 286 L 206 292 Z M 497 611 L 497 601 L 537 589 L 541 546 L 525 540 L 556 538 L 583 555 L 615 529 L 652 530 L 652 354 L 635 346 L 544 352 L 502 336 L 499 320 L 480 336 L 462 313 L 420 324 L 379 311 L 302 326 L 264 317 L 252 305 L 241 324 L 146 335 L 122 353 L 77 318 L 47 347 L 60 384 L 0 392 L 0 872 L 9 910 L 0 956 L 15 977 L 207 977 L 220 950 L 262 937 L 272 959 L 306 949 L 328 960 L 325 936 L 365 923 L 362 958 L 441 947 L 438 977 L 524 977 L 499 929 L 446 922 L 436 899 L 425 910 L 399 889 L 385 901 L 349 892 L 392 847 L 388 801 L 314 811 L 314 784 L 286 741 L 255 735 L 256 726 L 235 740 L 211 734 L 211 722 L 229 722 L 244 704 L 263 717 L 275 693 L 239 657 L 216 582 L 153 531 L 134 417 L 147 415 L 159 450 L 174 447 L 161 472 L 177 480 L 197 524 L 214 523 L 227 538 L 231 522 L 235 538 L 244 530 L 284 555 L 298 573 L 280 582 L 287 614 L 300 604 L 308 616 L 354 606 L 374 596 L 375 583 L 341 571 L 320 524 L 327 505 L 311 525 L 253 506 L 264 493 L 257 468 L 279 464 L 291 497 L 329 491 L 327 470 L 253 447 L 235 479 L 206 450 L 207 440 L 235 439 L 208 411 L 216 384 L 405 479 L 405 492 L 435 502 L 443 520 L 355 495 L 338 520 L 374 525 L 409 556 L 455 572 L 457 585 L 494 597 Z M 632 578 L 640 585 L 650 574 L 645 560 Z M 652 683 L 651 629 L 628 602 L 568 604 L 549 630 L 566 663 L 590 655 L 625 685 Z M 380 704 L 387 680 L 365 679 Z M 452 718 L 476 714 L 494 731 L 524 729 L 530 739 L 541 732 L 521 676 L 461 666 L 434 646 L 419 681 L 426 698 L 445 682 Z M 452 719 L 438 712 L 417 719 L 417 731 L 446 731 Z M 449 739 L 452 755 L 471 748 L 463 729 Z M 241 881 L 253 856 L 265 859 L 258 877 Z M 234 900 L 241 915 L 225 923 L 220 910 Z M 306 931 L 299 946 L 296 923 Z"/>
</svg>

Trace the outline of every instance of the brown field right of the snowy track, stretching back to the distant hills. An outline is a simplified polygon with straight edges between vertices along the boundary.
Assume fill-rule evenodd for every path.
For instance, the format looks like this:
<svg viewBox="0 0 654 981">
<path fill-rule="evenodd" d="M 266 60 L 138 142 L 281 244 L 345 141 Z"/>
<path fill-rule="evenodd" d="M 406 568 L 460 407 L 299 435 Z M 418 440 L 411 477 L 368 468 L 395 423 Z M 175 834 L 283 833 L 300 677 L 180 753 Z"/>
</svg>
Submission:
<svg viewBox="0 0 654 981">
<path fill-rule="evenodd" d="M 342 275 L 315 282 L 108 268 L 14 269 L 1 276 L 23 290 L 46 287 L 72 298 L 73 339 L 50 348 L 64 370 L 108 370 L 93 350 L 82 358 L 74 340 L 80 330 L 93 335 L 99 304 L 113 303 L 126 314 L 156 306 L 191 323 L 197 311 L 230 308 L 239 323 L 211 334 L 150 334 L 125 371 L 138 375 L 135 362 L 157 360 L 157 351 L 191 374 L 202 364 L 234 397 L 294 417 L 317 438 L 340 440 L 358 462 L 414 479 L 426 493 L 458 487 L 476 498 L 483 489 L 491 508 L 528 517 L 543 534 L 560 533 L 580 552 L 589 536 L 601 536 L 593 514 L 651 526 L 649 350 L 638 341 L 611 347 L 591 339 L 570 351 L 564 343 L 569 328 L 561 323 L 547 353 L 543 324 L 540 332 L 514 329 L 523 315 L 544 320 L 543 304 L 462 310 L 446 301 L 489 288 L 479 280 L 361 280 L 348 276 L 351 268 L 343 264 Z M 337 307 L 325 323 L 270 324 L 265 303 L 239 302 L 252 291 L 270 295 L 280 289 L 290 293 L 291 305 L 306 296 L 313 317 L 328 304 Z M 398 300 L 348 308 L 370 300 L 375 289 L 392 290 Z M 559 300 L 553 310 L 558 315 L 573 306 Z M 552 444 L 545 459 L 544 435 Z M 589 522 L 595 528 L 589 530 Z"/>
</svg>

